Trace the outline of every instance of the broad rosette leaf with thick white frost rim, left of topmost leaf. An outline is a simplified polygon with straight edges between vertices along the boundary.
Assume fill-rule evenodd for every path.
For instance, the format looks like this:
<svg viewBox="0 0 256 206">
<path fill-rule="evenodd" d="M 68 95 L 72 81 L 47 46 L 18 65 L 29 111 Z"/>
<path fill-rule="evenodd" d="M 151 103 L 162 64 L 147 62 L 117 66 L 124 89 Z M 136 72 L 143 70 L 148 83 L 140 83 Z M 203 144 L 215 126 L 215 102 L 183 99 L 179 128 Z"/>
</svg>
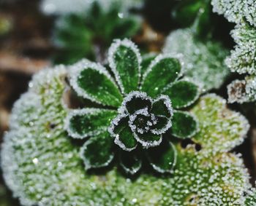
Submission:
<svg viewBox="0 0 256 206">
<path fill-rule="evenodd" d="M 121 105 L 121 93 L 103 66 L 81 60 L 70 70 L 70 84 L 80 97 L 105 106 Z"/>
</svg>

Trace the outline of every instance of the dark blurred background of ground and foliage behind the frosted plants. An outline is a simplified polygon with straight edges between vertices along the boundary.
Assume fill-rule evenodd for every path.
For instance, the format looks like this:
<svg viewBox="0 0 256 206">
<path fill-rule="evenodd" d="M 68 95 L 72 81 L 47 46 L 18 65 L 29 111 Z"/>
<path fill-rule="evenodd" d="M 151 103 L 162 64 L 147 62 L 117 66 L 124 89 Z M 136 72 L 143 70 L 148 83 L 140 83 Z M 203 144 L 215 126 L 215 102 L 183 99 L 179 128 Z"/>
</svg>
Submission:
<svg viewBox="0 0 256 206">
<path fill-rule="evenodd" d="M 229 33 L 233 26 L 211 12 L 209 0 L 0 0 L 0 142 L 8 130 L 13 103 L 41 69 L 81 58 L 105 63 L 108 47 L 117 38 L 132 39 L 143 54 L 151 52 L 154 56 L 177 28 L 195 28 L 197 38 L 211 36 L 232 49 Z M 226 85 L 237 78 L 235 75 L 226 76 L 220 87 L 210 91 L 227 98 Z M 253 106 L 245 110 L 235 104 L 230 108 L 241 111 L 256 125 Z M 243 154 L 252 183 L 254 133 L 252 127 L 250 138 L 236 148 Z M 18 201 L 12 198 L 0 174 L 0 206 L 15 205 Z"/>
</svg>

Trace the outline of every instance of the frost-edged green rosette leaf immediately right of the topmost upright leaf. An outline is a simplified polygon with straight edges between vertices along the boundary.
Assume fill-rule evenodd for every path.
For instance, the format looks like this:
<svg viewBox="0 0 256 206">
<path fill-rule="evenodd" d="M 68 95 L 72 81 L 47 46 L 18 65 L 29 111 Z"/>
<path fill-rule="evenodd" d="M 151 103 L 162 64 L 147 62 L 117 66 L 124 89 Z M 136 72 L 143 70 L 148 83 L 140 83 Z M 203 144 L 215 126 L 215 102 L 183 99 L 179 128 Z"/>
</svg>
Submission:
<svg viewBox="0 0 256 206">
<path fill-rule="evenodd" d="M 181 75 L 181 63 L 170 55 L 159 55 L 143 75 L 141 89 L 156 98 Z"/>
</svg>

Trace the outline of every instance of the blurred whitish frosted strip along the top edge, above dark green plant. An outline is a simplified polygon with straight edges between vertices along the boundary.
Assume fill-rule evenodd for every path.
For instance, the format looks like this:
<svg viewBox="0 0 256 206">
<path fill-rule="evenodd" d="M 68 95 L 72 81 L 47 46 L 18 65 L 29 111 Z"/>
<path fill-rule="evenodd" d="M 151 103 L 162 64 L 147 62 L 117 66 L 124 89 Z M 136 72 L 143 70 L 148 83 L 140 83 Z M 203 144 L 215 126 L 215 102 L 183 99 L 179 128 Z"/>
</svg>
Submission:
<svg viewBox="0 0 256 206">
<path fill-rule="evenodd" d="M 142 1 L 140 0 L 43 0 L 40 7 L 42 12 L 46 15 L 69 15 L 71 13 L 85 13 L 88 12 L 94 2 L 97 2 L 105 11 L 110 10 L 113 4 L 118 4 L 121 7 L 119 17 L 124 17 L 129 9 L 132 7 L 140 7 Z M 123 13 L 123 15 L 121 15 Z"/>
</svg>

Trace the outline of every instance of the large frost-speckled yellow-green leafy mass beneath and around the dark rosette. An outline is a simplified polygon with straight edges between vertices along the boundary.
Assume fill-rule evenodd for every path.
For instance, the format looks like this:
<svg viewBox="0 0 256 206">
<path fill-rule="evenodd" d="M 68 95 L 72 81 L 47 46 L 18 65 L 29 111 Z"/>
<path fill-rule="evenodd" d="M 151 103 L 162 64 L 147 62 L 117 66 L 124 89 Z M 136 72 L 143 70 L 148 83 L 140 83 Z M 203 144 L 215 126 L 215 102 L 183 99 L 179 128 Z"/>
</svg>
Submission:
<svg viewBox="0 0 256 206">
<path fill-rule="evenodd" d="M 175 145 L 173 175 L 142 173 L 130 180 L 116 169 L 103 175 L 85 173 L 80 151 L 64 130 L 69 110 L 61 100 L 67 72 L 59 67 L 36 74 L 33 87 L 13 109 L 12 116 L 22 109 L 27 117 L 12 118 L 11 124 L 20 126 L 4 137 L 1 167 L 22 205 L 255 205 L 241 155 L 228 152 L 241 143 L 248 124 L 217 95 L 206 95 L 192 107 L 200 119 L 200 132 L 193 140 L 202 148 Z M 29 121 L 33 126 L 26 124 Z"/>
</svg>

